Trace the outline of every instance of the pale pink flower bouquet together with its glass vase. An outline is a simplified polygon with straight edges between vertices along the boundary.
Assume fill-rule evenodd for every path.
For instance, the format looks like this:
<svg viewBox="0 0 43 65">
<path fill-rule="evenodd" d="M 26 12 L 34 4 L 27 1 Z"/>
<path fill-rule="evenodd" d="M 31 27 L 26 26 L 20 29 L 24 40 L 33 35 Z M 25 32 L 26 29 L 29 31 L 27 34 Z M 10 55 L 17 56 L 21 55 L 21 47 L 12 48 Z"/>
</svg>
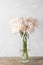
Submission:
<svg viewBox="0 0 43 65">
<path fill-rule="evenodd" d="M 10 26 L 13 33 L 19 33 L 22 39 L 22 57 L 21 62 L 29 61 L 29 54 L 27 48 L 27 38 L 29 39 L 29 34 L 31 34 L 35 28 L 38 28 L 39 22 L 37 19 L 30 18 L 16 18 L 10 21 Z"/>
</svg>

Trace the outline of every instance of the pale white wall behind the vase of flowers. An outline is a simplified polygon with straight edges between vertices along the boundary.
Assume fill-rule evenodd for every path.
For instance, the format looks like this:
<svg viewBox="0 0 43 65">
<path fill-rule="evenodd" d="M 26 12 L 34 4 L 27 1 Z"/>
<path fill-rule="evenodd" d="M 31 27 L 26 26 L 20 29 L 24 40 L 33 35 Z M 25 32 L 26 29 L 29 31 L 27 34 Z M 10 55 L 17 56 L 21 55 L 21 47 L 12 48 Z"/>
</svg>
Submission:
<svg viewBox="0 0 43 65">
<path fill-rule="evenodd" d="M 9 20 L 33 16 L 40 27 L 30 36 L 30 56 L 43 56 L 43 0 L 0 0 L 0 56 L 19 56 L 20 36 L 13 35 Z"/>
</svg>

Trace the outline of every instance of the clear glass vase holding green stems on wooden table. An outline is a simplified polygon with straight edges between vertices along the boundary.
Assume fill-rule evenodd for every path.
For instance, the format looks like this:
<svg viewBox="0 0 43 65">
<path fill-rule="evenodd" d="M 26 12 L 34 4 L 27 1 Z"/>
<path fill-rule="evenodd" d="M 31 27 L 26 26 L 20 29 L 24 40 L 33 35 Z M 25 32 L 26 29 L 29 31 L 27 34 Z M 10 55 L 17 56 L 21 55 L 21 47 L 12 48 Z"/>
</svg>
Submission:
<svg viewBox="0 0 43 65">
<path fill-rule="evenodd" d="M 29 48 L 26 34 L 22 36 L 21 42 L 21 62 L 26 63 L 29 62 Z"/>
</svg>

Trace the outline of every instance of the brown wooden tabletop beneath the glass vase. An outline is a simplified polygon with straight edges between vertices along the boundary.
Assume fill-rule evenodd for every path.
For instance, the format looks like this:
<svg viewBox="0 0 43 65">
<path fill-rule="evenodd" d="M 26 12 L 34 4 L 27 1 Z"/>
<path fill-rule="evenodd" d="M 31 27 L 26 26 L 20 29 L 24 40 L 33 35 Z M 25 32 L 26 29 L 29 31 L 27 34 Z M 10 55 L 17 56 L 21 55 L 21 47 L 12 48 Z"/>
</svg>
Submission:
<svg viewBox="0 0 43 65">
<path fill-rule="evenodd" d="M 31 57 L 28 63 L 20 63 L 19 57 L 0 57 L 0 65 L 43 65 L 43 57 Z"/>
</svg>

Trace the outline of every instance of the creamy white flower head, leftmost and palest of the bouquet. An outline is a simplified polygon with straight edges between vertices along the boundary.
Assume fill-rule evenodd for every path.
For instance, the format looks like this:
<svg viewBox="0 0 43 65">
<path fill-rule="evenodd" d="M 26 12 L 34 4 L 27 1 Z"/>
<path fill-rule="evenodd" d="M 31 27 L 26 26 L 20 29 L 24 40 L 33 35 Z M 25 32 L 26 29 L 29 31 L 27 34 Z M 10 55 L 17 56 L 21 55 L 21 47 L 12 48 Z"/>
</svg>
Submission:
<svg viewBox="0 0 43 65">
<path fill-rule="evenodd" d="M 10 27 L 11 27 L 12 33 L 19 32 L 19 30 L 21 28 L 21 24 L 20 24 L 20 22 L 18 23 L 18 18 L 12 19 L 10 21 Z"/>
</svg>

